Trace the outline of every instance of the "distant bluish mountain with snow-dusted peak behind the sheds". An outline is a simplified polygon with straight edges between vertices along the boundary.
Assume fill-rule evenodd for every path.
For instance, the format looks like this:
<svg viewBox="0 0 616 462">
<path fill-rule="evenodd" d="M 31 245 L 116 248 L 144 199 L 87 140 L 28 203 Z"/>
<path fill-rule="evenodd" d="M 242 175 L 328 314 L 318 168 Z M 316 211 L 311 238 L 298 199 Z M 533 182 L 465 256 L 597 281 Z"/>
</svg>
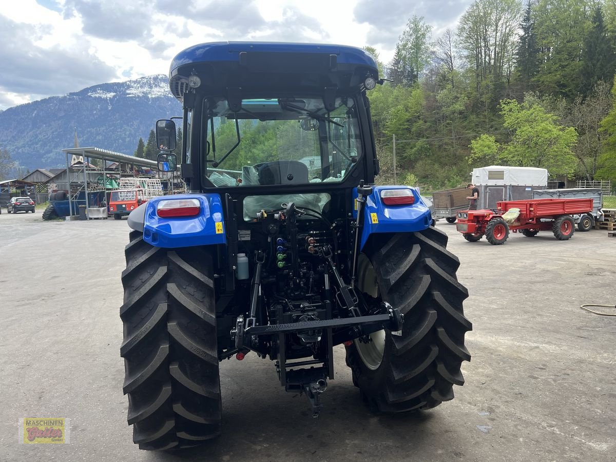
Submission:
<svg viewBox="0 0 616 462">
<path fill-rule="evenodd" d="M 77 129 L 81 147 L 132 155 L 156 120 L 181 115 L 164 75 L 103 83 L 0 111 L 0 148 L 30 170 L 63 167 Z"/>
</svg>

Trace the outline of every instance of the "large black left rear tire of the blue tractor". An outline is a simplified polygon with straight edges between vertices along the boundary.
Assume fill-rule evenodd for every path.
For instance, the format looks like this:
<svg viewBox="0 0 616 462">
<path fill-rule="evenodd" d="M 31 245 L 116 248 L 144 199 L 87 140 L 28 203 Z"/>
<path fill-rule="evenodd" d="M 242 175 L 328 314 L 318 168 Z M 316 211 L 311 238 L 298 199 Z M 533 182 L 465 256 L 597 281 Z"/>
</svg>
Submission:
<svg viewBox="0 0 616 462">
<path fill-rule="evenodd" d="M 122 273 L 124 394 L 133 441 L 146 450 L 219 436 L 221 391 L 211 256 L 162 249 L 131 232 Z"/>
</svg>

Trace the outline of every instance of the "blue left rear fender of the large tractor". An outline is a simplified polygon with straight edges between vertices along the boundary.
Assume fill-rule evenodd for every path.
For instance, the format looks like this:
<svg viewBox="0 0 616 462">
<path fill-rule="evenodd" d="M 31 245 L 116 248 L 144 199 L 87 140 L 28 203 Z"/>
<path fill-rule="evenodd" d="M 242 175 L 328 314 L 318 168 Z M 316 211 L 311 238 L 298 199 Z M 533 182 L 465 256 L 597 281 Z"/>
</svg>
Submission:
<svg viewBox="0 0 616 462">
<path fill-rule="evenodd" d="M 156 213 L 161 201 L 197 199 L 200 211 L 192 217 L 163 218 Z M 156 247 L 179 248 L 226 244 L 222 200 L 219 194 L 176 194 L 156 197 L 145 204 L 144 241 Z"/>
</svg>

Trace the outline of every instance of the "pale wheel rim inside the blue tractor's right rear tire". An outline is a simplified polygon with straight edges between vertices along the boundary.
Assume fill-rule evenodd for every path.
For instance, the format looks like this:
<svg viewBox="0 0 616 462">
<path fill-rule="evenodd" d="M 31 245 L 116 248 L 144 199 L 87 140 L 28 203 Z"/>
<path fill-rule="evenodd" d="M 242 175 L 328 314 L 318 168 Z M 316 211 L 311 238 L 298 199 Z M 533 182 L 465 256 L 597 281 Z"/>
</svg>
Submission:
<svg viewBox="0 0 616 462">
<path fill-rule="evenodd" d="M 378 298 L 379 286 L 378 282 L 376 282 L 376 271 L 368 257 L 364 254 L 360 254 L 357 267 L 357 273 L 359 274 L 357 288 L 363 293 Z M 385 331 L 379 330 L 373 332 L 369 337 L 371 341 L 368 343 L 355 339 L 355 347 L 364 365 L 370 370 L 376 370 L 381 365 L 381 362 L 383 362 Z"/>
</svg>

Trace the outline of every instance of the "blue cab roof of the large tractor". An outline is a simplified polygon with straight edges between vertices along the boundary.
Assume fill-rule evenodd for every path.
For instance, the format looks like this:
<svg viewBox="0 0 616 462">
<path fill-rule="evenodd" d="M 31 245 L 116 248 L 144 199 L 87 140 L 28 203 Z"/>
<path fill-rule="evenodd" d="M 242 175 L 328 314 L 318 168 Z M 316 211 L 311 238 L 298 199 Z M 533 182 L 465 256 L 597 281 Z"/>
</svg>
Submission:
<svg viewBox="0 0 616 462">
<path fill-rule="evenodd" d="M 197 76 L 189 83 L 190 76 Z M 209 95 L 237 87 L 243 95 L 267 92 L 357 92 L 378 80 L 375 59 L 360 48 L 305 43 L 215 42 L 185 49 L 169 69 L 180 101 L 192 88 Z"/>
</svg>

